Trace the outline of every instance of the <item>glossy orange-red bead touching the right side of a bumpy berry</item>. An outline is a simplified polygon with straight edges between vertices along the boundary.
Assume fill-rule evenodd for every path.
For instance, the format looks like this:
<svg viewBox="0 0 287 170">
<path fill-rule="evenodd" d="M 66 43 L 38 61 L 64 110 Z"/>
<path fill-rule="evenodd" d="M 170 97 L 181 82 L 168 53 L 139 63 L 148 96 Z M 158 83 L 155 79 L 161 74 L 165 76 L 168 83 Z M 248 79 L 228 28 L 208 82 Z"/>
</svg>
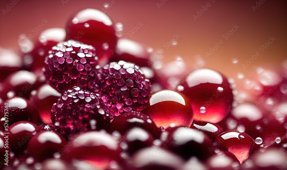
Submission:
<svg viewBox="0 0 287 170">
<path fill-rule="evenodd" d="M 172 90 L 161 90 L 150 97 L 148 107 L 143 111 L 158 127 L 190 127 L 193 110 L 187 96 Z"/>
</svg>

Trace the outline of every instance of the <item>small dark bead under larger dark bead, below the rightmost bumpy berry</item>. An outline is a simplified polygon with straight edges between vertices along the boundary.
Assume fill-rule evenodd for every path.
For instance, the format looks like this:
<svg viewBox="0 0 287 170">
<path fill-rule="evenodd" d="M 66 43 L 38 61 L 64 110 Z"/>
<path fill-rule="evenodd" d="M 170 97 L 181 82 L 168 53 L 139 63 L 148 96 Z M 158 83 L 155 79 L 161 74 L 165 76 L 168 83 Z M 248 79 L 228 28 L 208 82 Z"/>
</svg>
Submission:
<svg viewBox="0 0 287 170">
<path fill-rule="evenodd" d="M 147 130 L 140 127 L 134 127 L 123 134 L 120 142 L 120 146 L 124 151 L 133 154 L 141 148 L 152 146 L 154 137 Z"/>
</svg>

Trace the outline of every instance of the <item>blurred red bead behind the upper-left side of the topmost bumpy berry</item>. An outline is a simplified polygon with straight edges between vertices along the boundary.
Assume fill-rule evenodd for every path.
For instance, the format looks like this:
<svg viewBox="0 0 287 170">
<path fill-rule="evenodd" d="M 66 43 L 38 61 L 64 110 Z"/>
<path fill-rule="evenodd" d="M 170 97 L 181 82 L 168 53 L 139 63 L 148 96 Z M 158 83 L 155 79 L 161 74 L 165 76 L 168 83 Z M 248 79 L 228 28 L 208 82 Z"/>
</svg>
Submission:
<svg viewBox="0 0 287 170">
<path fill-rule="evenodd" d="M 49 55 L 48 52 L 53 46 L 57 45 L 58 42 L 64 41 L 65 36 L 66 32 L 63 28 L 50 28 L 44 30 L 35 43 L 33 50 L 24 56 L 34 60 L 31 69 L 42 69 L 42 67 L 44 67 L 45 57 Z"/>
</svg>

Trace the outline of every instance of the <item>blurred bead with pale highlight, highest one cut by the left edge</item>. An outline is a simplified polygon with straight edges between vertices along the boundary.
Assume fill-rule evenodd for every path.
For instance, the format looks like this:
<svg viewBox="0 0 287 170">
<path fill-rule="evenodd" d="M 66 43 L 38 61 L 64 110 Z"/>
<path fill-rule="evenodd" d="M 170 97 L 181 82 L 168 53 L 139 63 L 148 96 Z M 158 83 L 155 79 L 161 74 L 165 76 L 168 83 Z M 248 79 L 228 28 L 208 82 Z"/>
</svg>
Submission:
<svg viewBox="0 0 287 170">
<path fill-rule="evenodd" d="M 12 50 L 0 47 L 0 80 L 8 74 L 19 71 L 23 68 L 22 58 Z"/>
</svg>

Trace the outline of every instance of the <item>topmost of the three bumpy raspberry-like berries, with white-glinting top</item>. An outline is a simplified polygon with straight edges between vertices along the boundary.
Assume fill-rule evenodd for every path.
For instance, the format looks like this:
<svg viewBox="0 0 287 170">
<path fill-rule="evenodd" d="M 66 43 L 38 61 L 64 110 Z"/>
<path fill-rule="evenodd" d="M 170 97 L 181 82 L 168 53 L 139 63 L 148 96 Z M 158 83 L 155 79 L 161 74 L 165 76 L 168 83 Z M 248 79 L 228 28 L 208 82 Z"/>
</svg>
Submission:
<svg viewBox="0 0 287 170">
<path fill-rule="evenodd" d="M 98 65 L 95 48 L 68 40 L 59 42 L 45 58 L 44 74 L 49 84 L 61 92 L 73 86 L 85 88 Z"/>
</svg>

